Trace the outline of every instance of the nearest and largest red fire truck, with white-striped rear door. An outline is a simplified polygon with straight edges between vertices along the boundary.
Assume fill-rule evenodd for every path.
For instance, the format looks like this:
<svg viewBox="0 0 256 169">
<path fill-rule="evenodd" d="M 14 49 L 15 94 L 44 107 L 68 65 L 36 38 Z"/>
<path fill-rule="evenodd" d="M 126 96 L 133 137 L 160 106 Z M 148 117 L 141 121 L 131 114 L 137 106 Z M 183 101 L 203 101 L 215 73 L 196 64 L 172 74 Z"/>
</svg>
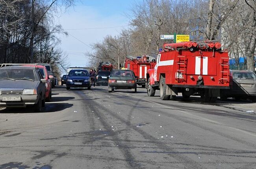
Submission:
<svg viewBox="0 0 256 169">
<path fill-rule="evenodd" d="M 219 42 L 164 44 L 154 69 L 147 72 L 148 96 L 160 90 L 161 100 L 199 93 L 202 102 L 215 102 L 220 89 L 229 89 L 228 52 Z"/>
</svg>

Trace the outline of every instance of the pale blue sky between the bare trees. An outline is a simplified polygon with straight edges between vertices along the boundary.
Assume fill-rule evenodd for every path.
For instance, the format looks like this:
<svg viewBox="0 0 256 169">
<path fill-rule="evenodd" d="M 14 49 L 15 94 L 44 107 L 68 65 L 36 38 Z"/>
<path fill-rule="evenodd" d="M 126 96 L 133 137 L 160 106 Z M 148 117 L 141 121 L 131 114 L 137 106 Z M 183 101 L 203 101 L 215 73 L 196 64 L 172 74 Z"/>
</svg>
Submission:
<svg viewBox="0 0 256 169">
<path fill-rule="evenodd" d="M 138 1 L 140 0 L 81 0 L 57 18 L 63 29 L 82 29 L 66 30 L 69 36 L 58 35 L 61 49 L 69 56 L 70 66 L 87 66 L 88 60 L 84 54 L 91 51 L 87 45 L 102 41 L 106 35 L 118 35 L 123 27 L 116 26 L 129 24 L 126 14 L 130 13 L 132 4 Z M 83 29 L 98 27 L 115 28 Z"/>
</svg>

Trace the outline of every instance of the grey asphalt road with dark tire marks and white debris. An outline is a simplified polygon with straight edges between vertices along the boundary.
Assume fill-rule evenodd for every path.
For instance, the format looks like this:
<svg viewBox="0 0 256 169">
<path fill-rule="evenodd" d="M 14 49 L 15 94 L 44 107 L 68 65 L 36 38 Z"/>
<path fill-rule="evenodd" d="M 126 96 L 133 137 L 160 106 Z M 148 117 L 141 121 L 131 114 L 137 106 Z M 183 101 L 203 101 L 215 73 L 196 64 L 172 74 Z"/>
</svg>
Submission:
<svg viewBox="0 0 256 169">
<path fill-rule="evenodd" d="M 0 111 L 0 169 L 252 169 L 256 116 L 107 87 Z"/>
</svg>

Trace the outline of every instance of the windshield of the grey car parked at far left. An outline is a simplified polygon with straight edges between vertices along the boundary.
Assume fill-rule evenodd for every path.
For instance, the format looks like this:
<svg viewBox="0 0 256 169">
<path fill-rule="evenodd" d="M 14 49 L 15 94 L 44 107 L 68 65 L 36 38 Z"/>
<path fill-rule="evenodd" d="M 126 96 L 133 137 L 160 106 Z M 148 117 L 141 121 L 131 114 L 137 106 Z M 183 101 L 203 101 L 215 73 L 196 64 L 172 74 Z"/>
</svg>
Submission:
<svg viewBox="0 0 256 169">
<path fill-rule="evenodd" d="M 11 78 L 15 80 L 37 80 L 33 69 L 0 69 L 0 79 Z"/>
</svg>

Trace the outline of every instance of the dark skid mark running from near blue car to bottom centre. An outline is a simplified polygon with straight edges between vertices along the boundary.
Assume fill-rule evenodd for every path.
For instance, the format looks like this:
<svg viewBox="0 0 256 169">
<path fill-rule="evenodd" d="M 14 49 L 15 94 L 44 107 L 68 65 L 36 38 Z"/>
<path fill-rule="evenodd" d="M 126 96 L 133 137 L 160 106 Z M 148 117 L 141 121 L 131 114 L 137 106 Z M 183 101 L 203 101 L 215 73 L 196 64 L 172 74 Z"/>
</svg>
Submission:
<svg viewBox="0 0 256 169">
<path fill-rule="evenodd" d="M 77 93 L 81 98 L 86 98 L 84 93 Z M 87 100 L 88 102 L 88 100 Z M 95 102 L 93 100 L 90 100 L 90 102 Z M 89 103 L 90 103 L 89 102 Z M 91 109 L 91 108 L 90 108 Z M 92 109 L 91 109 L 92 111 Z M 94 113 L 100 117 L 98 120 L 100 121 L 100 123 L 103 125 L 103 127 L 105 129 L 108 129 L 109 126 L 111 126 L 110 124 L 108 124 L 106 122 L 106 117 L 103 113 L 99 113 L 100 110 L 97 107 L 94 107 L 93 109 Z M 119 137 L 116 135 L 115 132 L 113 131 L 108 131 L 110 134 L 108 136 L 111 136 L 113 138 L 113 142 L 115 143 L 115 145 L 117 145 L 117 148 L 122 152 L 122 154 L 124 155 L 124 158 L 126 159 L 126 162 L 129 165 L 130 169 L 143 169 L 144 167 L 141 166 L 141 164 L 138 164 L 137 161 L 135 160 L 134 156 L 132 155 L 132 153 L 130 152 L 129 149 L 126 149 L 126 146 L 123 146 L 122 141 L 119 139 Z"/>
</svg>

